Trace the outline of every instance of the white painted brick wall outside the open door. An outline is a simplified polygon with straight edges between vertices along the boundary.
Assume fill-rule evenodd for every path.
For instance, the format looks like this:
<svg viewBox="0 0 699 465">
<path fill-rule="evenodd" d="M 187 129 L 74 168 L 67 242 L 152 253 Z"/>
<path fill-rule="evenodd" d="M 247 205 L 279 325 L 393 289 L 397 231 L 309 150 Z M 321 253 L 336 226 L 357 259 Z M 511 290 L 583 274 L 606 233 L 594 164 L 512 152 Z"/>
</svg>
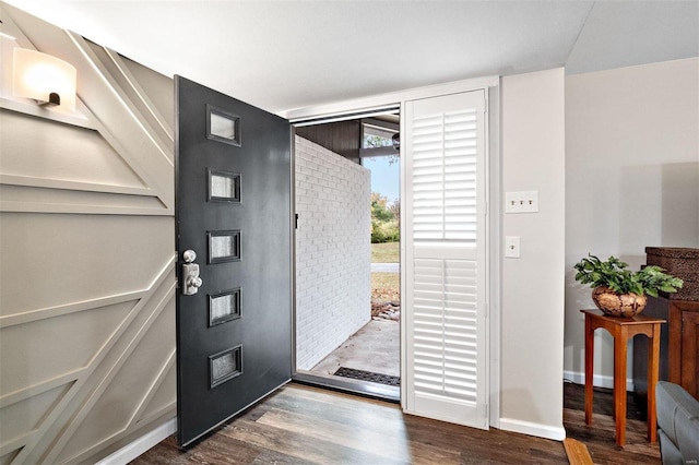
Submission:
<svg viewBox="0 0 699 465">
<path fill-rule="evenodd" d="M 296 136 L 296 367 L 371 318 L 370 171 Z"/>
</svg>

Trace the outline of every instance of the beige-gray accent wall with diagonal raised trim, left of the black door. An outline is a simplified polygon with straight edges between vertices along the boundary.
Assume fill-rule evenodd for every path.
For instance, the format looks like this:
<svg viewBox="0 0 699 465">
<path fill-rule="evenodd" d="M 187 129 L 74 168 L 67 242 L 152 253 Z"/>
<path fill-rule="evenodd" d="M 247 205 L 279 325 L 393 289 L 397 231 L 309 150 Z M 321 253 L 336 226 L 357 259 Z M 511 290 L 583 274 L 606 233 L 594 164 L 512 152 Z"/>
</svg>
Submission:
<svg viewBox="0 0 699 465">
<path fill-rule="evenodd" d="M 173 80 L 0 3 L 0 464 L 94 463 L 176 415 Z M 78 69 L 16 99 L 13 46 Z"/>
</svg>

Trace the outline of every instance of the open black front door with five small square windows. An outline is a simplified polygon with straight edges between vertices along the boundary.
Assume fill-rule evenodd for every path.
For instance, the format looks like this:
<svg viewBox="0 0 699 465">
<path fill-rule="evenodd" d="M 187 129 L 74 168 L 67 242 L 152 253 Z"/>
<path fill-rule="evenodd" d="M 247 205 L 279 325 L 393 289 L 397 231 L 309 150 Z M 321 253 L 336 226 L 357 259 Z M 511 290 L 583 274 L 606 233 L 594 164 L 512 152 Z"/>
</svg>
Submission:
<svg viewBox="0 0 699 465">
<path fill-rule="evenodd" d="M 175 86 L 177 434 L 187 445 L 292 375 L 291 126 L 181 76 Z"/>
</svg>

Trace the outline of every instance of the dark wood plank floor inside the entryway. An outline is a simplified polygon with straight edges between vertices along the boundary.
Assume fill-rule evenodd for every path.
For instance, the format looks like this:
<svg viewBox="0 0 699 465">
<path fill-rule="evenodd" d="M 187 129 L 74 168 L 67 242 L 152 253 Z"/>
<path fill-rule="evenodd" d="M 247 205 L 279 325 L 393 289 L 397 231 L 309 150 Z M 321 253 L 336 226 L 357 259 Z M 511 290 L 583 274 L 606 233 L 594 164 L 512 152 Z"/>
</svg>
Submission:
<svg viewBox="0 0 699 465">
<path fill-rule="evenodd" d="M 629 404 L 627 445 L 614 442 L 612 394 L 595 391 L 584 425 L 582 386 L 566 383 L 564 425 L 596 464 L 660 463 L 645 422 Z M 632 400 L 631 400 L 632 402 Z M 174 438 L 132 462 L 145 464 L 565 464 L 561 442 L 497 429 L 482 431 L 411 415 L 395 404 L 289 384 L 180 451 Z"/>
</svg>

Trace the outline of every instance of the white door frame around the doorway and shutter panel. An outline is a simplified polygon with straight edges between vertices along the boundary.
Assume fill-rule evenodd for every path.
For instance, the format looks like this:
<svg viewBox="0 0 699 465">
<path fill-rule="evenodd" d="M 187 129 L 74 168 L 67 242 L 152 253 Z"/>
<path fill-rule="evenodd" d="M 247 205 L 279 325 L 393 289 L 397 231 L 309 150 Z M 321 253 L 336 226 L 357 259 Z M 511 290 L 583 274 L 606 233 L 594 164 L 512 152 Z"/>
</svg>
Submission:
<svg viewBox="0 0 699 465">
<path fill-rule="evenodd" d="M 401 132 L 405 132 L 403 109 L 405 102 L 419 98 L 438 97 L 442 95 L 457 94 L 484 90 L 487 95 L 486 107 L 486 189 L 487 189 L 487 227 L 486 248 L 487 248 L 487 276 L 486 283 L 486 318 L 488 329 L 488 342 L 486 344 L 486 358 L 488 360 L 487 378 L 489 382 L 488 398 L 488 421 L 491 427 L 500 426 L 500 295 L 501 295 L 501 153 L 500 153 L 500 78 L 486 76 L 478 79 L 469 79 L 463 81 L 454 81 L 446 84 L 437 84 L 425 87 L 416 87 L 401 92 L 388 94 L 379 94 L 370 97 L 356 98 L 350 100 L 341 100 L 332 104 L 311 106 L 289 111 L 282 111 L 279 115 L 286 118 L 292 123 L 308 120 L 331 120 L 333 118 L 342 118 L 353 114 L 365 114 L 372 110 L 379 110 L 387 107 L 398 106 L 401 111 Z M 401 157 L 404 157 L 404 145 L 400 150 Z M 405 201 L 405 168 L 401 164 L 401 208 Z M 296 190 L 294 182 L 295 169 L 295 150 L 292 144 L 292 202 L 296 199 Z M 401 234 L 405 230 L 404 215 L 401 215 Z M 293 230 L 292 243 L 292 313 L 293 313 L 293 375 L 296 379 L 296 229 Z M 401 241 L 401 263 L 405 260 L 405 242 Z M 401 295 L 405 295 L 405 275 L 401 273 Z M 401 372 L 405 372 L 405 319 L 401 319 Z M 405 398 L 405 386 L 401 385 L 401 403 Z"/>
</svg>

